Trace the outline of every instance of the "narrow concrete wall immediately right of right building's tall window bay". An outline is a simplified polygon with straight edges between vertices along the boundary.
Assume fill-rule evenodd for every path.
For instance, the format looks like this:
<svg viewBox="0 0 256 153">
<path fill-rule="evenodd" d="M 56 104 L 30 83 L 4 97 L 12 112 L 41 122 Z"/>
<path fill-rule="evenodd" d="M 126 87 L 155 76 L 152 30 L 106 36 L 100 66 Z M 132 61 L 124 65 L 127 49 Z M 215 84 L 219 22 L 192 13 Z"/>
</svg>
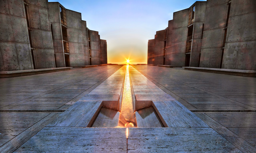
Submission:
<svg viewBox="0 0 256 153">
<path fill-rule="evenodd" d="M 202 46 L 202 28 L 205 21 L 206 2 L 197 1 L 195 4 L 195 18 L 193 24 L 190 67 L 199 67 L 199 57 Z M 193 7 L 192 5 L 191 7 Z"/>
</svg>

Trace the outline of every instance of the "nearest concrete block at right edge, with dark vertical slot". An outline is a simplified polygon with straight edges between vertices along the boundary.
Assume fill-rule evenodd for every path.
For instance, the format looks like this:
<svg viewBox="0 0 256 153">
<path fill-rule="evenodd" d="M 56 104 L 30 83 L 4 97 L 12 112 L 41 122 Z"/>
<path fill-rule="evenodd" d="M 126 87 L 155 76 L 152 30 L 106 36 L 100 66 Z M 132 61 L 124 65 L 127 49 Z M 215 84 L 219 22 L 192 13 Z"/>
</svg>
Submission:
<svg viewBox="0 0 256 153">
<path fill-rule="evenodd" d="M 256 1 L 208 0 L 200 67 L 256 70 Z"/>
</svg>

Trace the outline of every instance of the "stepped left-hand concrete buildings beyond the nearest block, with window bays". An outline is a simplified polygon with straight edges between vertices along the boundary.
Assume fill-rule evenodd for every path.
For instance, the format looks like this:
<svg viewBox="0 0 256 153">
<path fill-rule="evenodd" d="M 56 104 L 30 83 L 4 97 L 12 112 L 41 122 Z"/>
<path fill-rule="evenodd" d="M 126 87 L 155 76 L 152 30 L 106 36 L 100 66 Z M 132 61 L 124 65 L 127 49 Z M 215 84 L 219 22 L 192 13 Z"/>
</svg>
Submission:
<svg viewBox="0 0 256 153">
<path fill-rule="evenodd" d="M 58 2 L 49 2 L 49 12 L 57 67 L 102 64 L 99 32 L 87 28 L 81 13 Z"/>
</svg>

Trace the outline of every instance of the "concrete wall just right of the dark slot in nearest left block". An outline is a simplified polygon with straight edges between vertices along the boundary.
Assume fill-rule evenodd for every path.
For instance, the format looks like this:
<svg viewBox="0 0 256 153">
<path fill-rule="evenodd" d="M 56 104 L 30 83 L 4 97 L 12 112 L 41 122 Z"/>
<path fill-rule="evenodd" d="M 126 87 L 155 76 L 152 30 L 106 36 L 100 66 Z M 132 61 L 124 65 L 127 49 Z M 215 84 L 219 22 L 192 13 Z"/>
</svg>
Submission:
<svg viewBox="0 0 256 153">
<path fill-rule="evenodd" d="M 30 29 L 34 48 L 35 69 L 54 68 L 54 49 L 52 43 L 48 1 L 27 1 Z"/>
</svg>

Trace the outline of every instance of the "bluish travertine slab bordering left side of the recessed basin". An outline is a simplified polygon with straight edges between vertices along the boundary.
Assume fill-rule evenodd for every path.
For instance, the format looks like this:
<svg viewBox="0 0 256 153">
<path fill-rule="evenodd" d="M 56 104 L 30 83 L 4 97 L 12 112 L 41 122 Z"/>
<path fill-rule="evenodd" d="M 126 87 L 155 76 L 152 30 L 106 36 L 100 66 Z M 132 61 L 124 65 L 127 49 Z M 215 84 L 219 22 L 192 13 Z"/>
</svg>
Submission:
<svg viewBox="0 0 256 153">
<path fill-rule="evenodd" d="M 78 101 L 47 127 L 90 127 L 102 107 L 102 101 Z"/>
</svg>

